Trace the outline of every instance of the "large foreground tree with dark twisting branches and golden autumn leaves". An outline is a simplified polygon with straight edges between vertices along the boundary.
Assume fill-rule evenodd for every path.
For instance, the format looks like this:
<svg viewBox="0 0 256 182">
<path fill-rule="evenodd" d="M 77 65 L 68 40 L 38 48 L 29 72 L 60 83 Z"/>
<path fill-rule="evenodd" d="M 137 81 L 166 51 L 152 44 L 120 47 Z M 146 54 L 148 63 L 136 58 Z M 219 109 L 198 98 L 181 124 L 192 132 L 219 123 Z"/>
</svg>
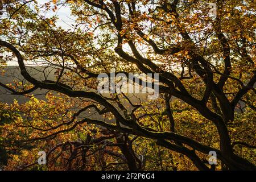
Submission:
<svg viewBox="0 0 256 182">
<path fill-rule="evenodd" d="M 44 8 L 56 11 L 61 5 L 68 6 L 76 17 L 70 30 L 57 27 L 56 16 L 46 18 L 41 13 Z M 16 85 L 0 85 L 18 95 L 27 96 L 36 89 L 61 93 L 64 100 L 77 101 L 79 109 L 63 124 L 53 121 L 51 127 L 27 125 L 47 131 L 47 135 L 26 136 L 26 142 L 51 139 L 86 123 L 128 136 L 117 137 L 117 143 L 129 141 L 129 135 L 153 139 L 158 146 L 186 156 L 200 170 L 214 169 L 204 160 L 209 151 L 217 153 L 222 169 L 255 170 L 254 164 L 238 155 L 234 147 L 241 144 L 254 148 L 253 144 L 243 140 L 232 143 L 229 131 L 238 116 L 255 113 L 254 4 L 216 1 L 214 5 L 216 16 L 212 17 L 208 2 L 196 0 L 52 1 L 43 7 L 35 1 L 3 1 L 0 45 L 2 53 L 9 54 L 1 57 L 1 63 L 16 57 L 24 80 Z M 48 79 L 46 69 L 39 71 L 44 73 L 43 79 L 36 78 L 25 61 L 43 61 L 44 67 L 56 69 L 55 78 Z M 152 112 L 134 104 L 125 94 L 106 97 L 93 91 L 97 76 L 110 74 L 112 68 L 126 75 L 159 74 L 160 97 L 146 102 Z M 214 125 L 218 146 L 210 146 L 196 134 L 181 134 L 185 126 L 176 127 L 175 114 L 179 112 L 174 110 L 171 98 L 181 101 L 181 113 Z M 162 112 L 155 113 L 159 105 Z M 246 108 L 241 109 L 241 105 Z M 114 122 L 92 119 L 89 114 L 80 117 L 89 108 Z M 237 111 L 239 108 L 242 113 Z M 197 124 L 189 122 L 193 125 Z M 141 160 L 129 150 L 129 142 L 119 148 L 127 161 L 134 162 L 129 163 L 130 169 L 138 169 Z"/>
</svg>

